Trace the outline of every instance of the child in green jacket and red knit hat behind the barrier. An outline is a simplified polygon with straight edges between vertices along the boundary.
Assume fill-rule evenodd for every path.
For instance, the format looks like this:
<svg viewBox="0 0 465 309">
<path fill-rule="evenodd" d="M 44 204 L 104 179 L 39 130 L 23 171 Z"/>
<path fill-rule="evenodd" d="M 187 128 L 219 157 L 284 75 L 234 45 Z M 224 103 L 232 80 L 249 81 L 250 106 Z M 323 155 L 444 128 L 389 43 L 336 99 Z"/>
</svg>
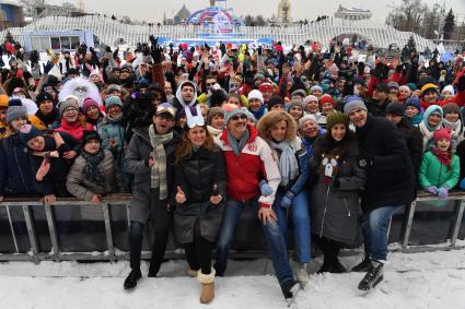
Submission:
<svg viewBox="0 0 465 309">
<path fill-rule="evenodd" d="M 449 191 L 458 182 L 461 171 L 460 159 L 452 154 L 452 134 L 449 129 L 434 131 L 434 147 L 423 155 L 420 174 L 420 186 L 426 192 L 446 199 Z"/>
</svg>

